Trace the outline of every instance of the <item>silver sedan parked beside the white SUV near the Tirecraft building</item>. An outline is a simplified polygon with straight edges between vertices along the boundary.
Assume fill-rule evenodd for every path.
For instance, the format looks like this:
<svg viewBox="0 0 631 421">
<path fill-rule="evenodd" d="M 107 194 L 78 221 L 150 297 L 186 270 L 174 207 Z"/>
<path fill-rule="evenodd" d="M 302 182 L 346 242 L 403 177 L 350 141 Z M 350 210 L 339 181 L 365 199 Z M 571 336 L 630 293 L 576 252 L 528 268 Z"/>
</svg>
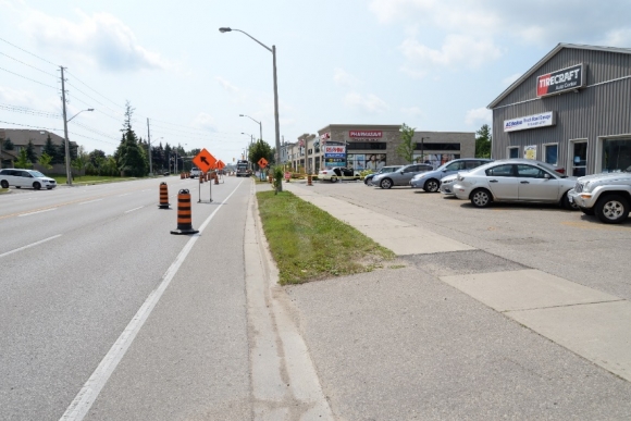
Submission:
<svg viewBox="0 0 631 421">
<path fill-rule="evenodd" d="M 458 173 L 453 189 L 458 199 L 471 200 L 477 208 L 493 201 L 534 201 L 578 209 L 568 198 L 576 183 L 576 177 L 558 173 L 545 162 L 508 159 Z"/>
</svg>

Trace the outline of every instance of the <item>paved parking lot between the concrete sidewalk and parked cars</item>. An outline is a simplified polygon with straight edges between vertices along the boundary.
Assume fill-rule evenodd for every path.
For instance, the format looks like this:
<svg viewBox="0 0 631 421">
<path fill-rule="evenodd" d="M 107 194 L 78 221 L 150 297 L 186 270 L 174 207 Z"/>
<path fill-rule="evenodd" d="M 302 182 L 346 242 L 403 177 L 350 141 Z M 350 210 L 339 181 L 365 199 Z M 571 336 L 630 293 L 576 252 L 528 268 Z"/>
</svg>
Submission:
<svg viewBox="0 0 631 421">
<path fill-rule="evenodd" d="M 548 205 L 493 203 L 487 209 L 475 209 L 469 201 L 442 194 L 409 187 L 386 190 L 356 182 L 314 183 L 310 188 L 525 268 L 631 299 L 627 260 L 631 252 L 631 219 L 606 225 L 595 216 Z M 448 260 L 448 265 L 459 264 L 458 258 Z M 453 271 L 445 264 L 431 269 L 436 275 Z"/>
</svg>

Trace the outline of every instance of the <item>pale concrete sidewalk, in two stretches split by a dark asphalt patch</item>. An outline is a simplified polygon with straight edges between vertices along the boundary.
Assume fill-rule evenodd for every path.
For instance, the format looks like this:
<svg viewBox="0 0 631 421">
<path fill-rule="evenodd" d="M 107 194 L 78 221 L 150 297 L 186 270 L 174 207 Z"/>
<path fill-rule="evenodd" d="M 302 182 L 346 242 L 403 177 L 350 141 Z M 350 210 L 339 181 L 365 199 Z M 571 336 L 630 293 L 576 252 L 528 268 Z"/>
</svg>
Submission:
<svg viewBox="0 0 631 421">
<path fill-rule="evenodd" d="M 455 238 L 319 194 L 318 185 L 285 183 L 283 187 L 354 226 L 397 256 L 446 253 L 457 260 L 460 255 L 475 250 Z M 438 278 L 631 381 L 631 302 L 628 300 L 528 268 L 499 272 L 465 271 Z"/>
</svg>

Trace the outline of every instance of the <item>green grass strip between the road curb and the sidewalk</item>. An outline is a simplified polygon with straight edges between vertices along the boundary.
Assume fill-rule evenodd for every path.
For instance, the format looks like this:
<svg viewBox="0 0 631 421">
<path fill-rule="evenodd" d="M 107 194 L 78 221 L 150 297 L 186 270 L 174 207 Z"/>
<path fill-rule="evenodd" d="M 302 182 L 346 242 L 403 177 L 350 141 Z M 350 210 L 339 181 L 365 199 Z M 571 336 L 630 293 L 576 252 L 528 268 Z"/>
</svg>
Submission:
<svg viewBox="0 0 631 421">
<path fill-rule="evenodd" d="M 260 191 L 257 198 L 281 285 L 370 272 L 395 257 L 289 191 Z"/>
</svg>

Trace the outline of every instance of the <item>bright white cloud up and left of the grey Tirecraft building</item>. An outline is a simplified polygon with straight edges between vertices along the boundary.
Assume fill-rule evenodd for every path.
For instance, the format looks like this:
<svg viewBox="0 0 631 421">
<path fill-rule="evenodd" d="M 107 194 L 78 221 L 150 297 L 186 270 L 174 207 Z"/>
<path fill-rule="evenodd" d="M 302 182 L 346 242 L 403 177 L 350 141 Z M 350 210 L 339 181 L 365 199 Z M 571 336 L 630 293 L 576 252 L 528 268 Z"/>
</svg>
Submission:
<svg viewBox="0 0 631 421">
<path fill-rule="evenodd" d="M 431 49 L 412 38 L 406 39 L 399 49 L 410 63 L 406 67 L 411 67 L 410 71 L 418 75 L 435 67 L 480 67 L 502 55 L 491 39 L 473 39 L 462 35 L 448 35 L 441 49 Z"/>
</svg>

